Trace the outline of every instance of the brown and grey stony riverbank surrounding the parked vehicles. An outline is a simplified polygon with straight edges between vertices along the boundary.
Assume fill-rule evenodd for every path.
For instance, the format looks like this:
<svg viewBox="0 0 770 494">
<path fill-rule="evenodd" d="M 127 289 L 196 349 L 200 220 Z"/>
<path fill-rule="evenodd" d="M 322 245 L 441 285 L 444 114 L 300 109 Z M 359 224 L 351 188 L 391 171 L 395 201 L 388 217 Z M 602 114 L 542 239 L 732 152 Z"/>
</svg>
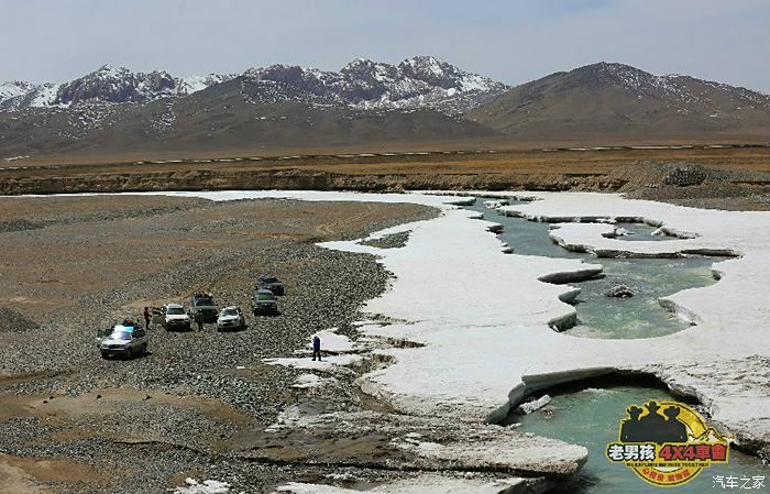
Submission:
<svg viewBox="0 0 770 494">
<path fill-rule="evenodd" d="M 393 476 L 365 464 L 246 458 L 264 430 L 311 389 L 301 371 L 265 365 L 329 327 L 353 334 L 362 301 L 385 289 L 372 256 L 321 249 L 437 211 L 414 205 L 215 204 L 164 197 L 0 199 L 0 491 L 160 493 L 186 477 L 235 492 L 342 475 Z M 280 316 L 248 317 L 242 332 L 151 329 L 151 353 L 102 360 L 97 329 L 144 306 L 189 303 L 198 288 L 249 307 L 254 279 L 280 277 Z M 352 376 L 320 400 L 362 411 Z M 317 400 L 318 402 L 318 400 Z M 318 408 L 316 405 L 306 405 Z M 346 475 L 346 476 L 345 476 Z"/>
</svg>

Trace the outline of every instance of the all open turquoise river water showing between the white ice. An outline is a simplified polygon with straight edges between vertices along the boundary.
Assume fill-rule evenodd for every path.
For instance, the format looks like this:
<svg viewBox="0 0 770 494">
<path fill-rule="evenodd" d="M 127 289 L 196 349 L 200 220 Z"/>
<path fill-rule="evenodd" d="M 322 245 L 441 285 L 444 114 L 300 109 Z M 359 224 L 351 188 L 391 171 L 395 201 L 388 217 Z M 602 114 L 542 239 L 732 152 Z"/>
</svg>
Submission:
<svg viewBox="0 0 770 494">
<path fill-rule="evenodd" d="M 708 257 L 683 259 L 597 259 L 590 254 L 569 252 L 548 237 L 548 223 L 505 217 L 483 207 L 481 201 L 469 207 L 484 213 L 484 219 L 504 226 L 501 240 L 514 248 L 516 254 L 548 257 L 580 259 L 604 266 L 604 277 L 571 285 L 582 289 L 576 299 L 579 325 L 569 334 L 591 338 L 650 338 L 680 331 L 689 325 L 676 319 L 658 303 L 682 289 L 715 283 Z M 634 235 L 623 240 L 676 241 L 670 237 L 652 237 L 646 224 L 620 224 Z M 717 260 L 718 261 L 718 260 Z M 613 286 L 625 284 L 635 296 L 625 299 L 606 297 Z M 726 465 L 704 469 L 693 481 L 675 487 L 656 487 L 641 481 L 634 471 L 609 462 L 605 457 L 608 442 L 617 440 L 619 421 L 626 418 L 626 408 L 650 399 L 672 399 L 662 388 L 650 385 L 614 385 L 588 389 L 564 389 L 553 396 L 544 408 L 530 415 L 510 415 L 507 424 L 520 424 L 518 430 L 582 444 L 588 449 L 588 461 L 581 470 L 578 490 L 570 494 L 636 494 L 636 493 L 716 493 L 714 475 L 752 477 L 766 476 L 770 484 L 770 469 L 759 459 L 730 451 Z M 748 493 L 770 493 L 770 488 L 738 490 Z"/>
</svg>

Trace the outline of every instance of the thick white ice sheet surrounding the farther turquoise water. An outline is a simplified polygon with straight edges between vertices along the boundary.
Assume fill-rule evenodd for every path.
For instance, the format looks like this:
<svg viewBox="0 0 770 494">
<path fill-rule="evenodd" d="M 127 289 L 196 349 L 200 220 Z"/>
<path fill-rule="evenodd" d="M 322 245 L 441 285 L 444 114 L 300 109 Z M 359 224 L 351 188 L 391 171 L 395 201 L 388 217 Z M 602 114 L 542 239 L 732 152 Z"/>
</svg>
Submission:
<svg viewBox="0 0 770 494">
<path fill-rule="evenodd" d="M 754 428 L 767 440 L 770 398 L 758 383 L 768 382 L 763 377 L 770 356 L 763 329 L 770 320 L 770 213 L 698 210 L 626 200 L 618 195 L 527 196 L 541 200 L 501 209 L 549 219 L 646 218 L 672 231 L 698 235 L 675 242 L 619 241 L 601 235 L 607 226 L 561 224 L 553 234 L 568 244 L 607 252 L 732 251 L 743 256 L 715 260 L 715 270 L 723 276 L 719 283 L 667 297 L 675 310 L 698 326 L 653 340 L 582 339 L 544 327 L 552 317 L 570 310 L 556 299 L 568 287 L 537 281 L 542 274 L 575 267 L 575 261 L 502 256 L 493 252 L 496 239 L 484 233 L 482 224 L 463 222 L 458 211 L 447 211 L 415 228 L 405 248 L 381 253 L 383 264 L 397 279 L 369 309 L 415 323 L 370 332 L 397 334 L 426 347 L 384 351 L 397 363 L 369 375 L 364 387 L 406 410 L 425 410 L 430 404 L 436 409 L 472 413 L 474 406 L 477 411 L 493 409 L 494 403 L 499 404 L 493 396 L 510 391 L 517 382 L 544 385 L 591 367 L 645 370 L 681 389 L 694 391 L 728 427 Z M 457 283 L 459 279 L 463 283 Z M 413 304 L 415 300 L 419 303 Z M 716 369 L 725 366 L 734 372 L 714 378 Z M 754 384 L 740 378 L 757 373 L 760 377 Z M 517 400 L 522 391 L 514 389 L 512 399 Z"/>
</svg>

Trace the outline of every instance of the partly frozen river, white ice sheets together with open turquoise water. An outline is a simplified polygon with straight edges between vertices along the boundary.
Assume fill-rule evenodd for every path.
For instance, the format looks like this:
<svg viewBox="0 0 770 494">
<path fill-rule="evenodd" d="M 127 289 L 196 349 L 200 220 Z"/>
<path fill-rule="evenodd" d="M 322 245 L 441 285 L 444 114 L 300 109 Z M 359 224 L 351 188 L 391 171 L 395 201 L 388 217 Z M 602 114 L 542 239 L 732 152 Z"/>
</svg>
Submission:
<svg viewBox="0 0 770 494">
<path fill-rule="evenodd" d="M 315 191 L 176 195 L 215 200 L 286 197 L 417 202 L 440 208 L 442 215 L 433 220 L 380 233 L 408 231 L 409 240 L 403 248 L 378 249 L 358 241 L 323 244 L 374 254 L 394 274 L 391 289 L 364 307 L 373 320 L 362 323 L 359 330 L 369 338 L 414 344 L 373 350 L 373 356 L 389 365 L 375 369 L 356 382 L 365 393 L 399 413 L 441 416 L 447 421 L 499 419 L 510 404 L 552 386 L 612 372 L 636 372 L 654 375 L 680 393 L 696 396 L 710 420 L 735 435 L 741 446 L 767 448 L 770 213 L 700 210 L 609 194 L 519 194 L 535 200 L 502 210 L 512 217 L 544 221 L 510 218 L 519 227 L 531 229 L 527 234 L 538 238 L 528 248 L 527 242 L 517 245 L 514 238 L 506 240 L 490 233 L 490 221 L 477 219 L 477 211 L 454 206 L 464 202 L 457 197 Z M 606 237 L 614 228 L 607 221 L 628 218 L 647 219 L 671 232 L 686 233 L 682 237 L 688 238 L 634 241 Z M 508 220 L 496 216 L 488 219 Z M 548 230 L 547 222 L 559 224 L 556 230 Z M 514 234 L 514 223 L 505 230 L 504 235 Z M 636 234 L 644 234 L 644 228 Z M 548 239 L 541 242 L 543 235 L 570 250 L 586 250 L 598 257 L 568 253 Z M 503 254 L 502 241 L 516 252 Z M 527 251 L 529 248 L 532 251 Z M 552 255 L 536 249 L 552 250 Z M 679 259 L 703 254 L 734 259 Z M 593 281 L 600 268 L 606 277 Z M 714 283 L 712 271 L 719 276 L 718 283 Z M 541 279 L 569 283 L 556 285 Z M 606 300 L 605 286 L 624 281 L 638 290 L 638 296 Z M 596 286 L 591 285 L 594 283 Z M 576 308 L 563 301 L 574 295 L 574 287 L 583 292 Z M 658 298 L 668 310 L 660 307 Z M 549 328 L 554 321 L 571 320 L 575 315 L 580 323 L 574 329 L 557 332 Z M 527 417 L 522 427 L 532 431 L 541 427 L 539 432 L 543 435 L 563 432 L 564 439 L 574 435 L 575 442 L 580 442 L 580 429 L 588 429 L 586 433 L 592 436 L 592 430 L 606 428 L 604 421 L 616 424 L 618 414 L 623 415 L 623 410 L 617 410 L 622 402 L 625 407 L 628 400 L 661 393 L 644 387 L 613 392 L 598 394 L 601 399 L 583 399 L 588 396 L 584 393 L 563 395 L 552 406 L 576 413 L 559 414 L 557 408 L 556 422 L 547 424 L 534 416 Z M 559 425 L 561 419 L 565 421 Z M 592 449 L 592 461 L 596 454 Z M 730 473 L 738 475 L 755 466 L 758 471 L 763 469 L 751 459 L 733 466 Z M 591 469 L 586 474 L 601 480 L 603 474 L 592 473 Z M 708 471 L 702 474 L 704 479 L 708 475 Z M 608 485 L 590 492 L 617 492 Z M 647 492 L 644 484 L 635 485 L 636 490 L 627 492 Z"/>
</svg>

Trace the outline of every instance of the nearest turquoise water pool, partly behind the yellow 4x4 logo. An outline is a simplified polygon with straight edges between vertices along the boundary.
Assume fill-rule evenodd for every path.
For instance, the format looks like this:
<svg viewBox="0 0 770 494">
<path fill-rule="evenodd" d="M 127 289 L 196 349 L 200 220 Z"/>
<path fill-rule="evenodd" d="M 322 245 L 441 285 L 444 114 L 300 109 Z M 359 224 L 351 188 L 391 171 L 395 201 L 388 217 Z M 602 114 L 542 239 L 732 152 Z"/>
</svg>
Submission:
<svg viewBox="0 0 770 494">
<path fill-rule="evenodd" d="M 637 493 L 715 493 L 725 492 L 714 487 L 714 475 L 737 477 L 763 475 L 763 488 L 738 490 L 747 493 L 770 493 L 770 468 L 761 460 L 729 452 L 729 462 L 701 471 L 691 482 L 675 487 L 656 487 L 641 481 L 634 471 L 609 462 L 605 457 L 608 442 L 616 441 L 619 421 L 626 416 L 626 407 L 647 403 L 650 399 L 674 399 L 666 391 L 650 386 L 613 386 L 588 388 L 553 396 L 544 408 L 530 415 L 510 415 L 507 424 L 518 422 L 517 430 L 532 432 L 581 444 L 588 449 L 588 461 L 581 470 L 575 494 L 637 494 Z M 736 490 L 727 490 L 736 491 Z"/>
</svg>

